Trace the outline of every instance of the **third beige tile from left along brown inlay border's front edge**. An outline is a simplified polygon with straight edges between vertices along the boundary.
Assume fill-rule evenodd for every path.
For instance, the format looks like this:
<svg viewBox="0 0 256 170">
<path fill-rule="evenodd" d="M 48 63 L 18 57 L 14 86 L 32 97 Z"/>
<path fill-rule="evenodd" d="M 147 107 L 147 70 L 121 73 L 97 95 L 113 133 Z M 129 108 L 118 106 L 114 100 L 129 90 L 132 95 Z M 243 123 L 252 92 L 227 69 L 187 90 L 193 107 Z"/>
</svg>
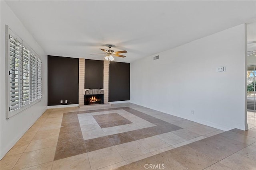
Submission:
<svg viewBox="0 0 256 170">
<path fill-rule="evenodd" d="M 149 152 L 137 141 L 123 143 L 120 145 L 116 145 L 115 147 L 124 158 L 124 160 L 134 158 L 136 156 L 140 156 Z"/>
</svg>

